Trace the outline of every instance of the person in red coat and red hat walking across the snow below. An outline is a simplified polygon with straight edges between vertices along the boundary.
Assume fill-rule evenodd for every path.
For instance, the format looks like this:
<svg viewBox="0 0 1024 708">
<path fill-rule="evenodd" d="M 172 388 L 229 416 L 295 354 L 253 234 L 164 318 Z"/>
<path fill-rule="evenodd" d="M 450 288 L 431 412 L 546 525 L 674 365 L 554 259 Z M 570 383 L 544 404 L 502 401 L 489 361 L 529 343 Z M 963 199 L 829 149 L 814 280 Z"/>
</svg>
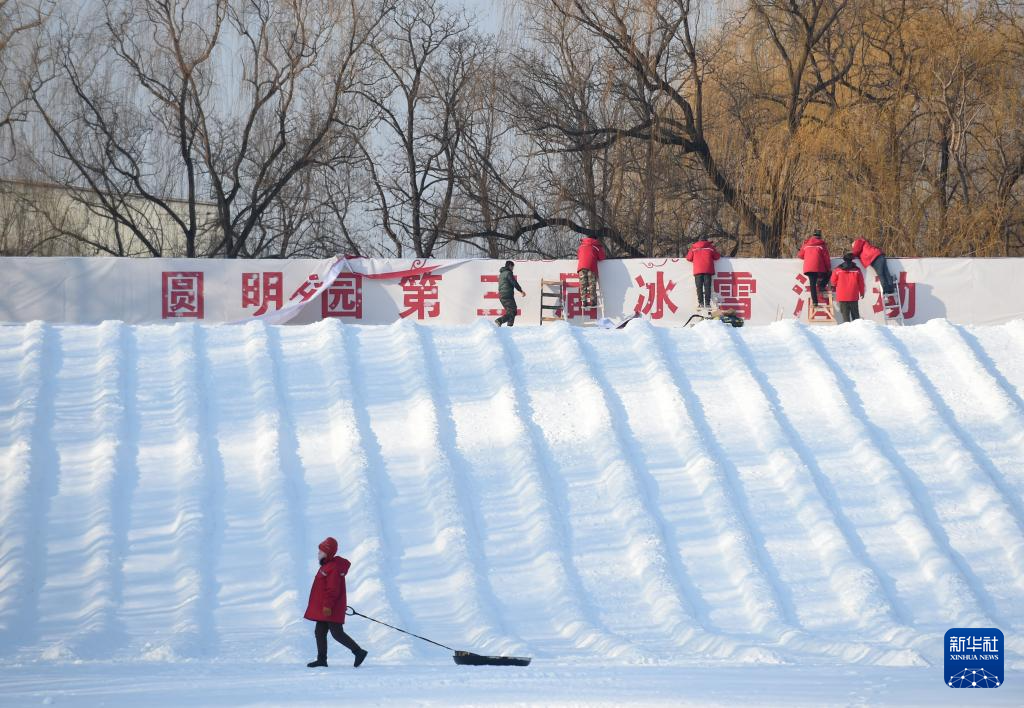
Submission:
<svg viewBox="0 0 1024 708">
<path fill-rule="evenodd" d="M 345 574 L 351 568 L 346 558 L 338 555 L 338 542 L 328 536 L 319 546 L 319 570 L 313 576 L 313 586 L 309 589 L 309 605 L 305 618 L 316 623 L 313 636 L 316 637 L 316 661 L 306 666 L 315 668 L 327 666 L 327 633 L 355 655 L 353 666 L 358 666 L 367 658 L 368 652 L 345 633 Z"/>
</svg>

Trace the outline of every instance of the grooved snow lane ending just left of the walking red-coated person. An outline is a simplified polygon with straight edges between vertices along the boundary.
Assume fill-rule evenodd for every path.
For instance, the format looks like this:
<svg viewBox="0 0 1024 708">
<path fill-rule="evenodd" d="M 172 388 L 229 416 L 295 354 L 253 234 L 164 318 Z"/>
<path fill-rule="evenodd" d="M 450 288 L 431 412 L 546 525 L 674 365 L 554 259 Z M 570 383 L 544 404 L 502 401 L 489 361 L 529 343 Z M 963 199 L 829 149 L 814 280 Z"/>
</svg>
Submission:
<svg viewBox="0 0 1024 708">
<path fill-rule="evenodd" d="M 294 573 L 300 531 L 282 478 L 278 402 L 262 323 L 229 327 L 207 346 L 210 429 L 223 478 L 224 536 L 215 620 L 225 651 L 298 661 Z M 259 558 L 262 572 L 251 572 Z M 294 635 L 289 637 L 289 634 Z"/>
</svg>

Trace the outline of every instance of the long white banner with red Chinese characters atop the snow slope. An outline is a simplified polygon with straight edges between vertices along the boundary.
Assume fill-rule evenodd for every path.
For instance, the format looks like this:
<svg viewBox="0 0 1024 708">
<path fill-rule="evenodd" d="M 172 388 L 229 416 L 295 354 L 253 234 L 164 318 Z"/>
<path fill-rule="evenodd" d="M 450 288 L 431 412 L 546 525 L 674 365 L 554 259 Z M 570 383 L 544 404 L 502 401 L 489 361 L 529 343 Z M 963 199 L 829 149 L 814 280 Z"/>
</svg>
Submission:
<svg viewBox="0 0 1024 708">
<path fill-rule="evenodd" d="M 501 314 L 498 269 L 504 261 L 210 260 L 167 258 L 0 258 L 0 321 L 127 323 L 197 320 L 305 324 L 328 317 L 388 324 L 399 319 L 465 324 Z M 835 261 L 839 262 L 839 261 Z M 797 259 L 723 258 L 714 290 L 723 307 L 752 324 L 806 316 Z M 997 324 L 1024 317 L 1015 278 L 1021 258 L 889 259 L 908 324 L 945 318 Z M 695 310 L 690 263 L 679 258 L 606 260 L 600 264 L 603 308 L 581 307 L 574 260 L 516 261 L 526 295 L 517 325 L 540 322 L 541 280 L 564 280 L 573 322 L 617 319 L 639 310 L 656 324 L 679 325 Z M 871 268 L 862 318 L 883 320 L 882 289 Z"/>
</svg>

